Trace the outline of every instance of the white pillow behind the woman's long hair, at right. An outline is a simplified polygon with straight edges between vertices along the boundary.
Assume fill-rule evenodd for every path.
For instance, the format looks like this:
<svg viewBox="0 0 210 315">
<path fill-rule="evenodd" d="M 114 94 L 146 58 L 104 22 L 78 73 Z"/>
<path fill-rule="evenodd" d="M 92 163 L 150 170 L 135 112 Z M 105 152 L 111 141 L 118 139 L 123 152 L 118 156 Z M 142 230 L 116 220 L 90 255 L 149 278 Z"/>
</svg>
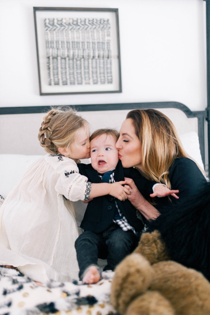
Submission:
<svg viewBox="0 0 210 315">
<path fill-rule="evenodd" d="M 195 160 L 196 163 L 198 163 L 198 165 L 201 166 L 202 169 L 204 169 L 197 133 L 195 131 L 191 131 L 180 135 L 180 140 L 184 150 Z"/>
</svg>

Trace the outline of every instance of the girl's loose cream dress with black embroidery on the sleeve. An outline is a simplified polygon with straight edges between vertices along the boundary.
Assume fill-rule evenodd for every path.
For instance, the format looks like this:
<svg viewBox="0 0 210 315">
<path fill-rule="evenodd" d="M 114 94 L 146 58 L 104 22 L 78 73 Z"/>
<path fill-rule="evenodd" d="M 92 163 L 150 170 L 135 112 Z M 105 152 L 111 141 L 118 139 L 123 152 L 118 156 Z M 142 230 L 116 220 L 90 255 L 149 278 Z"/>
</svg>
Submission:
<svg viewBox="0 0 210 315">
<path fill-rule="evenodd" d="M 0 264 L 41 282 L 77 279 L 72 201 L 84 200 L 87 186 L 68 157 L 46 154 L 35 162 L 0 208 Z"/>
</svg>

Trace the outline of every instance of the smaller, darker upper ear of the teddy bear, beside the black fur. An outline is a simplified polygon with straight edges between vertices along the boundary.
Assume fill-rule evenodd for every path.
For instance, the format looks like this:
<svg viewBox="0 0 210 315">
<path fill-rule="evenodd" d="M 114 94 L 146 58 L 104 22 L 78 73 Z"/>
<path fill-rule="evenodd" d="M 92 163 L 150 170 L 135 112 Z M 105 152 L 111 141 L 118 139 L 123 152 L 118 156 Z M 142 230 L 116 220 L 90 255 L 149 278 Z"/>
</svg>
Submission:
<svg viewBox="0 0 210 315">
<path fill-rule="evenodd" d="M 158 230 L 155 230 L 151 233 L 142 233 L 141 239 L 134 253 L 143 255 L 151 265 L 159 261 L 170 259 L 165 247 L 165 243 L 163 242 Z"/>
</svg>

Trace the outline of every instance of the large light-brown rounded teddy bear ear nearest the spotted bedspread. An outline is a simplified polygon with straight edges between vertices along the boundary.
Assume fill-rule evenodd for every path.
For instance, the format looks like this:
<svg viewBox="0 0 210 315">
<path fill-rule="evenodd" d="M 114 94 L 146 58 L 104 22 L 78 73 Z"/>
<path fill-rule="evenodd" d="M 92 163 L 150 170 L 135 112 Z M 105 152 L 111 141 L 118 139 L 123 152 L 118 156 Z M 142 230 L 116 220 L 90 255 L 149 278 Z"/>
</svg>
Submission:
<svg viewBox="0 0 210 315">
<path fill-rule="evenodd" d="M 117 312 L 125 314 L 130 302 L 148 289 L 153 274 L 152 266 L 140 254 L 128 255 L 117 265 L 111 284 L 111 303 Z"/>
</svg>

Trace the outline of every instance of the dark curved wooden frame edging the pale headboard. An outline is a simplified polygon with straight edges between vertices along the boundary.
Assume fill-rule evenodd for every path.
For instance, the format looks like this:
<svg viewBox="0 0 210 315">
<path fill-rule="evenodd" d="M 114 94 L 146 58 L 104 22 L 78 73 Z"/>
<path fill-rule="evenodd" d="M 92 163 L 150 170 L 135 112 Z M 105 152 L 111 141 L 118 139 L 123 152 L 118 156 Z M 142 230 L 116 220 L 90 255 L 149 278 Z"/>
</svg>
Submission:
<svg viewBox="0 0 210 315">
<path fill-rule="evenodd" d="M 148 102 L 148 103 L 120 103 L 120 104 L 93 104 L 93 105 L 69 105 L 78 111 L 106 111 L 106 110 L 132 110 L 135 108 L 178 108 L 182 110 L 187 117 L 198 118 L 198 137 L 200 143 L 201 157 L 205 170 L 208 166 L 205 160 L 205 139 L 204 122 L 207 119 L 206 111 L 192 112 L 187 106 L 178 102 Z M 6 114 L 29 114 L 41 113 L 50 110 L 51 106 L 26 106 L 26 107 L 1 107 L 0 115 Z"/>
</svg>

